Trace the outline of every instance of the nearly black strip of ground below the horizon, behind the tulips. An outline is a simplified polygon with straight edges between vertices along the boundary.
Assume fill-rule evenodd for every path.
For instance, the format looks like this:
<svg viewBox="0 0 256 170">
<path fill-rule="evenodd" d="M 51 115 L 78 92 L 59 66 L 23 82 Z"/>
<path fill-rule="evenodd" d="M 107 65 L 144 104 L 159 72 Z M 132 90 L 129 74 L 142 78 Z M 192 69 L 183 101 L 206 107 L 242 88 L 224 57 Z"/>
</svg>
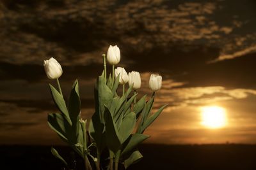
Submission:
<svg viewBox="0 0 256 170">
<path fill-rule="evenodd" d="M 55 147 L 70 162 L 71 150 Z M 256 145 L 141 145 L 143 159 L 129 169 L 256 169 Z M 0 146 L 3 169 L 61 169 L 51 146 Z M 76 156 L 75 156 L 76 157 Z M 74 164 L 73 164 L 74 166 Z M 76 157 L 77 170 L 83 162 Z M 2 169 L 2 168 L 1 168 Z"/>
</svg>

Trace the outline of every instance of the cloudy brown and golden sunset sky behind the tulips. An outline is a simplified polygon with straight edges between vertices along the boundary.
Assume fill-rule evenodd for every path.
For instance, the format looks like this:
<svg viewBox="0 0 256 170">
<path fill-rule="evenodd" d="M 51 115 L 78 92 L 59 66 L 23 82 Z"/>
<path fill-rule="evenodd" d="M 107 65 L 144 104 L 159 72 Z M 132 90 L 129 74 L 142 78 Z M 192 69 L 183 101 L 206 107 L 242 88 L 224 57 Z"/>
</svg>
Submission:
<svg viewBox="0 0 256 170">
<path fill-rule="evenodd" d="M 127 71 L 163 76 L 147 143 L 256 143 L 256 1 L 2 1 L 0 144 L 63 144 L 47 125 L 57 109 L 43 61 L 54 57 L 68 97 L 79 80 L 82 116 L 92 116 L 102 53 L 118 45 Z M 110 70 L 110 67 L 108 67 Z M 218 106 L 225 125 L 202 124 Z M 156 110 L 154 110 L 156 111 Z M 215 114 L 215 113 L 214 113 Z"/>
</svg>

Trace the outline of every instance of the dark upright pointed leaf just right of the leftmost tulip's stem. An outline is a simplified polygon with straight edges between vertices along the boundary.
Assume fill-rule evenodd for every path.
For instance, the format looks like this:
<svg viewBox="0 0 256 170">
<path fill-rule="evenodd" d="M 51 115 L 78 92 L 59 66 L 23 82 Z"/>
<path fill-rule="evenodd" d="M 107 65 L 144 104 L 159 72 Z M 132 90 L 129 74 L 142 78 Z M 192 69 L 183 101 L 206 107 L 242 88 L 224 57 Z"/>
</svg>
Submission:
<svg viewBox="0 0 256 170">
<path fill-rule="evenodd" d="M 72 123 L 77 121 L 77 117 L 81 113 L 81 101 L 79 97 L 79 85 L 77 80 L 74 82 L 70 92 L 68 101 L 68 113 Z"/>
</svg>

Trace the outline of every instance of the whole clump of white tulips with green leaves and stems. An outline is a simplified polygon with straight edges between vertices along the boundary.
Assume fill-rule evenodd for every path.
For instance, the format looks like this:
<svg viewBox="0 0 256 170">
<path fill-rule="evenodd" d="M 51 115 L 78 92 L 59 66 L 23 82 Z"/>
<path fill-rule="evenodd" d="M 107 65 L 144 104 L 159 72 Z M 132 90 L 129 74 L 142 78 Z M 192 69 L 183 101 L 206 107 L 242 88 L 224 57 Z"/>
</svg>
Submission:
<svg viewBox="0 0 256 170">
<path fill-rule="evenodd" d="M 161 89 L 162 77 L 151 74 L 149 87 L 153 91 L 152 96 L 148 97 L 149 99 L 147 95 L 137 99 L 136 90 L 141 87 L 140 73 L 132 71 L 127 74 L 123 67 L 115 69 L 115 65 L 120 62 L 120 50 L 118 46 L 110 45 L 107 60 L 113 66 L 113 70 L 107 78 L 106 55 L 102 56 L 104 70 L 95 84 L 95 113 L 90 121 L 81 118 L 78 81 L 74 82 L 66 103 L 59 82 L 62 74 L 61 65 L 54 58 L 44 60 L 47 77 L 57 80 L 58 89 L 51 84 L 49 87 L 52 99 L 60 110 L 60 113 L 48 115 L 48 124 L 83 158 L 85 169 L 113 170 L 115 168 L 117 170 L 118 165 L 127 169 L 143 157 L 138 150 L 138 145 L 150 137 L 143 132 L 166 107 L 164 105 L 156 113 L 151 113 L 155 93 Z M 129 83 L 127 89 L 125 89 L 126 83 Z M 122 94 L 118 94 L 119 85 L 122 85 Z M 70 169 L 54 148 L 51 151 Z M 108 151 L 108 166 L 100 162 L 103 151 Z"/>
</svg>

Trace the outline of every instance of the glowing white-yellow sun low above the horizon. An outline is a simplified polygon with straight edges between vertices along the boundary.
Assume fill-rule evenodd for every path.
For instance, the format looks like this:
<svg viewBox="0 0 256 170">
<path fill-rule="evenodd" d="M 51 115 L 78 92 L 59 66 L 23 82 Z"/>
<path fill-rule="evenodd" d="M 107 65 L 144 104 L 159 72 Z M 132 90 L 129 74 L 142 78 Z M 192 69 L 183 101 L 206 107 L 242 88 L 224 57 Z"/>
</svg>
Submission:
<svg viewBox="0 0 256 170">
<path fill-rule="evenodd" d="M 201 124 L 211 129 L 218 129 L 227 124 L 226 110 L 219 106 L 205 106 L 201 110 Z"/>
</svg>

